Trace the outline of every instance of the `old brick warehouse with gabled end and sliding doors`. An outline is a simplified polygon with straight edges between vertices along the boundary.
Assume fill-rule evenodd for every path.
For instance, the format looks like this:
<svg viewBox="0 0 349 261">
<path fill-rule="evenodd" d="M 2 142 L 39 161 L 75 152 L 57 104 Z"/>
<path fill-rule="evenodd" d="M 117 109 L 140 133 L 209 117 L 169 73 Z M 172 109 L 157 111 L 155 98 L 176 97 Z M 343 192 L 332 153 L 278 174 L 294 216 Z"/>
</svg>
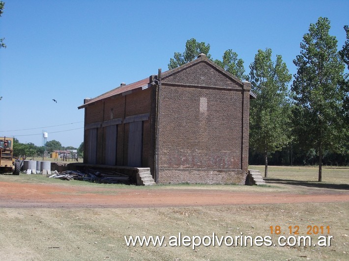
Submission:
<svg viewBox="0 0 349 261">
<path fill-rule="evenodd" d="M 201 54 L 86 99 L 88 164 L 149 167 L 157 183 L 244 183 L 249 82 Z"/>
</svg>

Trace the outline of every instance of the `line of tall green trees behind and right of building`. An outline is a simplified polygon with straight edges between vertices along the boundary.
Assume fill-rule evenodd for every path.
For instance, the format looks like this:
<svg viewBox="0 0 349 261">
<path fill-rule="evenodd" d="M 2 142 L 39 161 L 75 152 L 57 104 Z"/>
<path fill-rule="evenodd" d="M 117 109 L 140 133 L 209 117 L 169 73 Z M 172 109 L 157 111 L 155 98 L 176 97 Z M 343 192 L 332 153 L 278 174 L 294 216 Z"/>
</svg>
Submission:
<svg viewBox="0 0 349 261">
<path fill-rule="evenodd" d="M 293 60 L 292 76 L 281 55 L 258 50 L 245 74 L 244 62 L 228 49 L 222 60 L 213 60 L 210 45 L 192 38 L 183 53 L 175 52 L 169 69 L 194 60 L 200 53 L 241 80 L 251 82 L 257 99 L 250 103 L 249 163 L 349 164 L 349 26 L 347 40 L 338 51 L 338 41 L 329 34 L 330 21 L 320 17 L 310 24 Z M 290 86 L 291 84 L 291 86 Z"/>
</svg>

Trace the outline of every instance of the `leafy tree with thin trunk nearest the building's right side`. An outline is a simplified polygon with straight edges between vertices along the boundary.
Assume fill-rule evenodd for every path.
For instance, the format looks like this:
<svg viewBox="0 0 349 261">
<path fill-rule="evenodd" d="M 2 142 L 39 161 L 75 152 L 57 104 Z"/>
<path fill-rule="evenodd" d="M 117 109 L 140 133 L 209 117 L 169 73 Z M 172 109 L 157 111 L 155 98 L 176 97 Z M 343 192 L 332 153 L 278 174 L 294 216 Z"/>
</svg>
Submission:
<svg viewBox="0 0 349 261">
<path fill-rule="evenodd" d="M 250 104 L 250 148 L 264 155 L 264 177 L 268 176 L 268 154 L 290 142 L 291 74 L 281 55 L 273 62 L 271 54 L 271 49 L 258 50 L 250 65 L 251 89 L 257 94 Z"/>
</svg>

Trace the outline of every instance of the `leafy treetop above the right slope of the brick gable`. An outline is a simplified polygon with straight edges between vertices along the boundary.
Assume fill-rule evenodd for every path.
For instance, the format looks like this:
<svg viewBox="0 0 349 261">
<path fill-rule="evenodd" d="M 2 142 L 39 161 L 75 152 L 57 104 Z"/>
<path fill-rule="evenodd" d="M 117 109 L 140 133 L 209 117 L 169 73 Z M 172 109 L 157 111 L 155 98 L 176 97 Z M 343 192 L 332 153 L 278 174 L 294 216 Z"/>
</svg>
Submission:
<svg viewBox="0 0 349 261">
<path fill-rule="evenodd" d="M 248 78 L 245 75 L 244 61 L 237 59 L 237 53 L 233 52 L 232 49 L 224 52 L 222 61 L 216 59 L 214 63 L 239 79 L 246 80 Z"/>
</svg>

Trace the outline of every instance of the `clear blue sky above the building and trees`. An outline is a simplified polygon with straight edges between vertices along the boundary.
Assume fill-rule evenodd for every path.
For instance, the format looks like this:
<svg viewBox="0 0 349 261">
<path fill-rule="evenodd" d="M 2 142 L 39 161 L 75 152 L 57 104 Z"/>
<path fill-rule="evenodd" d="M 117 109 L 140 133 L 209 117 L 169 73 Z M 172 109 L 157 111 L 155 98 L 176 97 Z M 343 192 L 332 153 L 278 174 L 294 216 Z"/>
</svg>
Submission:
<svg viewBox="0 0 349 261">
<path fill-rule="evenodd" d="M 271 48 L 294 74 L 311 23 L 329 18 L 339 48 L 349 25 L 348 0 L 3 1 L 0 136 L 37 146 L 46 131 L 48 141 L 78 147 L 84 98 L 167 71 L 192 37 L 209 43 L 214 59 L 233 49 L 246 73 L 257 51 Z"/>
</svg>

